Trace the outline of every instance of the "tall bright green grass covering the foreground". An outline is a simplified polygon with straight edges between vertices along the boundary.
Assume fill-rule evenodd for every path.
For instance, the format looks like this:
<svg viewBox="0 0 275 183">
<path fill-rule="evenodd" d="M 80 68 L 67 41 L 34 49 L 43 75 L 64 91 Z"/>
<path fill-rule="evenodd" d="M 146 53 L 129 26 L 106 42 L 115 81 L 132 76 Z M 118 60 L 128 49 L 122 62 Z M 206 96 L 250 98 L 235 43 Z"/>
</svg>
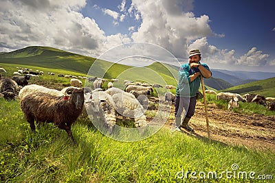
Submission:
<svg viewBox="0 0 275 183">
<path fill-rule="evenodd" d="M 166 128 L 144 141 L 124 143 L 104 136 L 87 119 L 72 126 L 72 143 L 52 124 L 31 132 L 19 101 L 0 98 L 0 109 L 0 182 L 198 182 L 190 173 L 180 175 L 232 171 L 232 164 L 239 165 L 237 171 L 275 175 L 272 151 L 227 146 Z M 258 180 L 225 175 L 209 180 L 247 181 Z"/>
</svg>

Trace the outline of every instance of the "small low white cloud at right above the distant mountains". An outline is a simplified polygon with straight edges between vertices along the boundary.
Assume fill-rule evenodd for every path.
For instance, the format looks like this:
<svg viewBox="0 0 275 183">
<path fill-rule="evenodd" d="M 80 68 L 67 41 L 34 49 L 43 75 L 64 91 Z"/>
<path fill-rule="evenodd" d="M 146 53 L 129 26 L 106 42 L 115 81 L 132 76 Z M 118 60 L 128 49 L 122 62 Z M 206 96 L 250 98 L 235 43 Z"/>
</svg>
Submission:
<svg viewBox="0 0 275 183">
<path fill-rule="evenodd" d="M 269 54 L 263 54 L 263 51 L 257 51 L 256 47 L 252 47 L 252 49 L 250 49 L 248 53 L 245 53 L 237 60 L 236 64 L 248 66 L 264 66 L 268 64 L 267 58 L 269 56 Z"/>
</svg>

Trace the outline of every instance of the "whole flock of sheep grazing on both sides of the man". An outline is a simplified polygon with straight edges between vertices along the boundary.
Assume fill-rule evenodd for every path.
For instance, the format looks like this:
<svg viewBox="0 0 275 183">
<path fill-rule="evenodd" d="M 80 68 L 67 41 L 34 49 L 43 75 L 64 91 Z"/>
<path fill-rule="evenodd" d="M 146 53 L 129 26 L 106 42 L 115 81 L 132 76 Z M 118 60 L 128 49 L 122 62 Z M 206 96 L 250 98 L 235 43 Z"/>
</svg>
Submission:
<svg viewBox="0 0 275 183">
<path fill-rule="evenodd" d="M 6 72 L 0 67 L 0 71 Z M 32 75 L 43 74 L 36 71 Z M 25 119 L 30 123 L 30 128 L 35 131 L 35 124 L 39 122 L 54 123 L 60 129 L 72 135 L 72 123 L 78 119 L 80 114 L 87 112 L 89 117 L 96 121 L 98 126 L 104 127 L 107 132 L 112 133 L 118 115 L 133 119 L 136 127 L 147 125 L 144 112 L 148 108 L 148 96 L 153 93 L 153 88 L 171 89 L 175 86 L 159 84 L 147 84 L 124 80 L 124 90 L 113 87 L 116 79 L 108 80 L 93 77 L 87 78 L 93 82 L 94 88 L 83 88 L 83 82 L 72 78 L 70 85 L 62 90 L 55 90 L 28 84 L 32 77 L 30 73 L 25 75 L 14 75 L 10 78 L 0 78 L 0 91 L 5 99 L 14 99 L 19 95 L 21 110 Z M 60 76 L 63 77 L 63 76 Z M 102 84 L 108 82 L 107 90 L 102 89 Z M 228 100 L 228 109 L 239 107 L 239 101 L 256 102 L 267 105 L 274 110 L 275 99 L 261 95 L 246 94 L 243 97 L 236 93 L 216 93 L 213 90 L 206 90 L 206 93 L 217 95 L 217 99 Z M 165 101 L 174 101 L 175 95 L 169 91 L 165 93 Z"/>
</svg>

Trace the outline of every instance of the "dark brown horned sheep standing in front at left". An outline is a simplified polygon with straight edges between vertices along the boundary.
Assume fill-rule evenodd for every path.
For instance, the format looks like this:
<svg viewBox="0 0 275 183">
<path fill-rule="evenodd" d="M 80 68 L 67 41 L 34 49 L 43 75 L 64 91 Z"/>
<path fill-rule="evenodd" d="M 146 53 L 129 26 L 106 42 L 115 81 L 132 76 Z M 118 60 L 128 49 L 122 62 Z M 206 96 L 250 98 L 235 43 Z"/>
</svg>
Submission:
<svg viewBox="0 0 275 183">
<path fill-rule="evenodd" d="M 30 93 L 21 100 L 20 107 L 33 132 L 35 131 L 34 119 L 36 123 L 39 121 L 54 123 L 65 130 L 74 141 L 71 126 L 82 112 L 83 104 L 84 90 L 80 88 L 72 90 L 69 99 L 41 92 Z"/>
</svg>

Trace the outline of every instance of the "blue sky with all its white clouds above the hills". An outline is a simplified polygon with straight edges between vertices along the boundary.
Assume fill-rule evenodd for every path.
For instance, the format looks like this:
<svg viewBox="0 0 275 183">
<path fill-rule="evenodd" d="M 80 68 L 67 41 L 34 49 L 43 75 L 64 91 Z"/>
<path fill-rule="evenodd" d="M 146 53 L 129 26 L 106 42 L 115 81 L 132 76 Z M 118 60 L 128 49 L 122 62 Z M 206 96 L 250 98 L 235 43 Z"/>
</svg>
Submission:
<svg viewBox="0 0 275 183">
<path fill-rule="evenodd" d="M 98 58 L 148 42 L 180 63 L 198 48 L 213 69 L 275 72 L 274 7 L 273 0 L 3 0 L 0 51 L 41 45 Z"/>
</svg>

